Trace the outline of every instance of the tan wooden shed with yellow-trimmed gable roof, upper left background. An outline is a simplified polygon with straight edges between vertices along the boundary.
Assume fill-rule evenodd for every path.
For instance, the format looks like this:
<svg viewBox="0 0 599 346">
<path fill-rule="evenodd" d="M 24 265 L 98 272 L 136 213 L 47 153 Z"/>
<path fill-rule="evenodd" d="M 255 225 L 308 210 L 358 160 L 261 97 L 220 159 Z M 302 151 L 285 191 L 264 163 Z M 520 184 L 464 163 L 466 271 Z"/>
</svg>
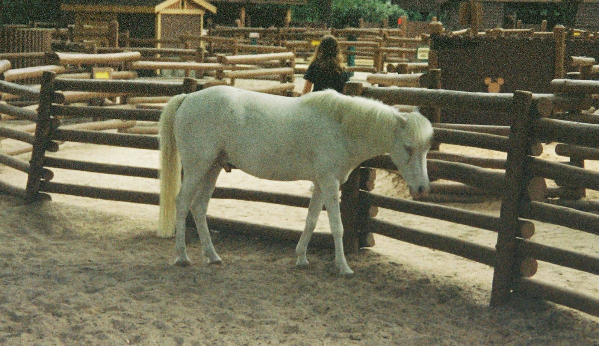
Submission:
<svg viewBox="0 0 599 346">
<path fill-rule="evenodd" d="M 62 0 L 66 23 L 75 26 L 108 26 L 119 22 L 119 31 L 132 38 L 177 38 L 185 31 L 199 35 L 204 14 L 216 13 L 205 0 Z"/>
</svg>

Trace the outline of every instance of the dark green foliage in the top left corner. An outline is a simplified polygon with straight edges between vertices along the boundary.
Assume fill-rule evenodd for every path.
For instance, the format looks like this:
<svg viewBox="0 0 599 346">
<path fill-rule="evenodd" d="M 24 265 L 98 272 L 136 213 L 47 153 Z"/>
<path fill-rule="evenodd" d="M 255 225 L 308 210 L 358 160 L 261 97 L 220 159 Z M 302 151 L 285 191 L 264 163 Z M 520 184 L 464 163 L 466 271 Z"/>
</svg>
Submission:
<svg viewBox="0 0 599 346">
<path fill-rule="evenodd" d="M 2 24 L 48 22 L 60 17 L 56 0 L 2 0 Z"/>
</svg>

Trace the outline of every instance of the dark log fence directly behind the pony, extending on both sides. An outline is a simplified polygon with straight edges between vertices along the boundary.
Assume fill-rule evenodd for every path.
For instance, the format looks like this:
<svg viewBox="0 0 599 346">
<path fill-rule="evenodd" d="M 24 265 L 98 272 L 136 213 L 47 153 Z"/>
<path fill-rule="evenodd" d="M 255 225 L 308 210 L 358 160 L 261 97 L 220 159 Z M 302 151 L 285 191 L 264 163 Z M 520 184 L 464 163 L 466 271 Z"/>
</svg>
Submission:
<svg viewBox="0 0 599 346">
<path fill-rule="evenodd" d="M 156 121 L 160 114 L 159 110 L 114 110 L 56 105 L 53 104 L 57 98 L 56 90 L 80 92 L 108 92 L 110 90 L 111 92 L 145 96 L 174 95 L 198 89 L 195 80 L 188 78 L 183 83 L 69 80 L 56 78 L 53 72 L 44 72 L 43 80 L 28 184 L 26 190 L 19 190 L 18 193 L 22 196 L 26 195 L 30 201 L 42 198 L 44 193 L 65 193 L 116 201 L 158 204 L 158 194 L 156 193 L 52 182 L 50 179 L 52 173 L 49 173 L 52 168 L 134 177 L 158 177 L 156 169 L 65 160 L 47 156 L 46 152 L 55 145 L 55 141 L 158 149 L 156 136 L 59 129 L 58 117 L 93 114 L 107 119 Z M 450 178 L 474 187 L 496 189 L 503 192 L 500 217 L 371 193 L 371 168 L 395 169 L 388 157 L 376 157 L 364 162 L 353 171 L 347 183 L 342 187 L 341 214 L 345 226 L 346 249 L 355 251 L 359 247 L 373 245 L 370 233 L 391 236 L 494 266 L 492 305 L 503 304 L 509 299 L 510 292 L 516 291 L 526 295 L 540 296 L 543 299 L 580 309 L 589 314 L 599 315 L 599 299 L 559 289 L 551 284 L 528 278 L 536 272 L 536 260 L 599 274 L 597 269 L 599 268 L 599 258 L 531 241 L 534 225 L 530 221 L 521 220 L 522 217 L 541 220 L 597 234 L 598 216 L 572 208 L 537 202 L 531 198 L 527 189 L 531 176 L 527 172 L 553 179 L 574 177 L 582 186 L 599 190 L 599 173 L 559 163 L 545 162 L 530 155 L 534 151 L 532 144 L 539 140 L 558 140 L 577 146 L 599 147 L 599 139 L 597 139 L 599 138 L 599 125 L 581 125 L 543 117 L 568 102 L 576 102 L 576 98 L 570 99 L 568 96 L 571 92 L 595 93 L 598 87 L 597 82 L 589 84 L 588 81 L 555 81 L 555 91 L 564 94 L 548 96 L 535 95 L 530 92 L 516 92 L 513 95 L 489 94 L 413 87 L 362 87 L 360 83 L 347 84 L 346 93 L 350 95 L 376 98 L 388 104 L 464 110 L 491 109 L 500 113 L 512 114 L 514 123 L 509 136 L 435 127 L 434 139 L 437 142 L 507 151 L 505 172 L 492 171 L 462 162 L 428 160 L 429 170 L 440 178 Z M 270 202 L 294 207 L 307 207 L 309 202 L 308 198 L 287 193 L 265 193 L 235 188 L 217 188 L 214 198 Z M 523 206 L 525 208 L 522 208 Z M 424 230 L 391 224 L 375 217 L 376 208 L 412 213 L 497 232 L 497 247 L 483 246 L 451 236 L 441 236 Z M 256 236 L 266 233 L 270 236 L 276 234 L 283 238 L 298 239 L 299 233 L 301 233 L 214 217 L 210 217 L 208 223 L 214 229 L 239 229 L 242 232 L 251 232 Z M 317 236 L 314 242 L 330 245 L 332 240 L 327 234 Z"/>
</svg>

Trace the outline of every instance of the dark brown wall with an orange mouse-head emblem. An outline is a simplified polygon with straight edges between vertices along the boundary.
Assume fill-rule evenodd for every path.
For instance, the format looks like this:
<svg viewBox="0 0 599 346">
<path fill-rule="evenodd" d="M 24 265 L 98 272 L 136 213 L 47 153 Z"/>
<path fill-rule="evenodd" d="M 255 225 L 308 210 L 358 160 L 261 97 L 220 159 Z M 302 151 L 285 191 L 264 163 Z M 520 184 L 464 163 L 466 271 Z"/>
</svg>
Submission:
<svg viewBox="0 0 599 346">
<path fill-rule="evenodd" d="M 553 78 L 569 72 L 565 58 L 587 56 L 599 60 L 599 41 L 568 36 L 561 25 L 544 37 L 431 35 L 431 51 L 440 68 L 444 89 L 466 92 L 513 93 L 529 90 L 550 93 Z M 432 66 L 431 66 L 432 67 Z M 573 71 L 573 70 L 572 70 Z M 589 108 L 588 102 L 580 102 Z M 510 125 L 510 117 L 490 111 L 444 110 L 444 123 Z"/>
</svg>

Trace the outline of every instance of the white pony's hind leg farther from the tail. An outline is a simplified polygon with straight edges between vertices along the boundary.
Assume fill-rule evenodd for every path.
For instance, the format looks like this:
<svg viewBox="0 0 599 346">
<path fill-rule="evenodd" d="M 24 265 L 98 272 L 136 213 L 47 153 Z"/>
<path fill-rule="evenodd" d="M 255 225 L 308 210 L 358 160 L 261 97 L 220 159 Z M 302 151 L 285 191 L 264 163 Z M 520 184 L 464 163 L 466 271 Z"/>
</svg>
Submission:
<svg viewBox="0 0 599 346">
<path fill-rule="evenodd" d="M 212 196 L 212 193 L 214 192 L 216 178 L 219 177 L 221 169 L 222 167 L 220 165 L 213 163 L 205 179 L 200 182 L 200 188 L 191 205 L 195 226 L 198 229 L 199 240 L 202 243 L 204 256 L 206 256 L 208 264 L 219 264 L 222 262 L 219 255 L 216 254 L 216 250 L 214 250 L 214 245 L 210 238 L 210 231 L 208 230 L 208 224 L 206 223 L 208 202 L 210 201 L 210 196 Z"/>
</svg>

